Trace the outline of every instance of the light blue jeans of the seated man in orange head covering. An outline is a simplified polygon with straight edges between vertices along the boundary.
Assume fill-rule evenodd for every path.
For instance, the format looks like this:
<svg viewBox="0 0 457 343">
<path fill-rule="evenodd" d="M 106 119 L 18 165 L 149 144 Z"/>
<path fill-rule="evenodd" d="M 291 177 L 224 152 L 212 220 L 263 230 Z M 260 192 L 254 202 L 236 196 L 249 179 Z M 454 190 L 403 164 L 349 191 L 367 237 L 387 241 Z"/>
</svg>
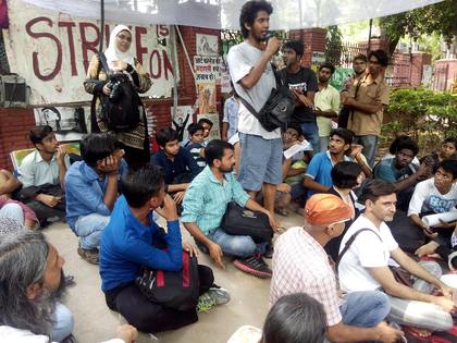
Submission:
<svg viewBox="0 0 457 343">
<path fill-rule="evenodd" d="M 380 291 L 346 294 L 339 307 L 346 326 L 371 328 L 383 321 L 391 310 L 388 296 Z"/>
</svg>

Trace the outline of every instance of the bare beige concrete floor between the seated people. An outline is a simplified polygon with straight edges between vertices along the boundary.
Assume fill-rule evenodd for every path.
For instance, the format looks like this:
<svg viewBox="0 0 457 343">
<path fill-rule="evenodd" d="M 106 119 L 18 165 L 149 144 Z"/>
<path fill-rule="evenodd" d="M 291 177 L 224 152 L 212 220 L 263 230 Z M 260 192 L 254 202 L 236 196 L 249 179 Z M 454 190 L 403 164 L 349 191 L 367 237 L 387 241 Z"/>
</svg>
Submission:
<svg viewBox="0 0 457 343">
<path fill-rule="evenodd" d="M 302 225 L 301 217 L 291 213 L 277 217 L 283 228 Z M 163 223 L 162 223 L 163 224 Z M 183 238 L 189 240 L 186 230 L 182 229 Z M 125 320 L 111 311 L 100 290 L 98 266 L 84 261 L 76 253 L 77 238 L 65 223 L 54 223 L 45 230 L 49 242 L 53 244 L 65 259 L 66 274 L 75 277 L 76 285 L 69 287 L 64 303 L 74 315 L 74 335 L 79 343 L 96 343 L 114 336 L 115 328 Z M 209 313 L 199 315 L 198 322 L 181 330 L 157 334 L 140 334 L 145 342 L 206 342 L 223 343 L 243 324 L 261 327 L 268 313 L 270 280 L 262 280 L 238 271 L 225 258 L 226 269 L 218 269 L 209 256 L 200 253 L 199 264 L 213 268 L 215 283 L 226 289 L 232 301 Z M 267 260 L 271 264 L 271 260 Z"/>
</svg>

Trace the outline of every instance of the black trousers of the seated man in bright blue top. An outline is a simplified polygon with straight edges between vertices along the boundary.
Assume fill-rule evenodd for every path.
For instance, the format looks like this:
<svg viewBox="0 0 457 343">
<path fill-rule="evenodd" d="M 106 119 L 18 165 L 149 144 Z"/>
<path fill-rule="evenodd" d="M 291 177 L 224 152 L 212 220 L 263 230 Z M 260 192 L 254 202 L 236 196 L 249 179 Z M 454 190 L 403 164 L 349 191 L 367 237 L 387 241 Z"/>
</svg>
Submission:
<svg viewBox="0 0 457 343">
<path fill-rule="evenodd" d="M 214 275 L 211 268 L 201 265 L 198 265 L 198 275 L 201 295 L 212 286 Z M 198 320 L 196 308 L 180 311 L 151 303 L 135 283 L 106 292 L 104 297 L 110 309 L 120 313 L 129 324 L 141 332 L 176 330 Z"/>
</svg>

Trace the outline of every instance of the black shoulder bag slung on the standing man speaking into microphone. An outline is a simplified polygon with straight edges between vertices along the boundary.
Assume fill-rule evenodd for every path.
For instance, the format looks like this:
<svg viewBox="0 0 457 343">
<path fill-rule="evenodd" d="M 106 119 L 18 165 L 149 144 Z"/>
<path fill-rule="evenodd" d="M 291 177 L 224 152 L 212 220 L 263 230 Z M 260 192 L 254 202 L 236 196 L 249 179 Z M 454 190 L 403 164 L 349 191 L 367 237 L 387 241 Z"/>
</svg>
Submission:
<svg viewBox="0 0 457 343">
<path fill-rule="evenodd" d="M 277 127 L 285 127 L 289 122 L 296 106 L 295 96 L 288 88 L 287 83 L 281 78 L 273 64 L 272 69 L 274 78 L 276 79 L 276 88 L 271 89 L 265 105 L 263 105 L 259 112 L 257 112 L 246 99 L 239 98 L 248 111 L 251 112 L 252 115 L 259 120 L 263 128 L 269 132 L 272 132 Z"/>
</svg>

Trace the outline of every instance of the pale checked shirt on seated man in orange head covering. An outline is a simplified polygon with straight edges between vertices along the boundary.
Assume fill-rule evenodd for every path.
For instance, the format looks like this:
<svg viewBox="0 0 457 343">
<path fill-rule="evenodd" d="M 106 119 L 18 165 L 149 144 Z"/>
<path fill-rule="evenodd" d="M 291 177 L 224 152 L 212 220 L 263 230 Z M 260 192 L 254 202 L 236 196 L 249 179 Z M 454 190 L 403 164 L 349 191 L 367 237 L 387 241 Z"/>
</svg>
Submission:
<svg viewBox="0 0 457 343">
<path fill-rule="evenodd" d="M 274 245 L 270 305 L 293 293 L 306 293 L 320 302 L 329 327 L 342 321 L 335 274 L 326 253 L 299 226 L 287 230 Z"/>
</svg>

